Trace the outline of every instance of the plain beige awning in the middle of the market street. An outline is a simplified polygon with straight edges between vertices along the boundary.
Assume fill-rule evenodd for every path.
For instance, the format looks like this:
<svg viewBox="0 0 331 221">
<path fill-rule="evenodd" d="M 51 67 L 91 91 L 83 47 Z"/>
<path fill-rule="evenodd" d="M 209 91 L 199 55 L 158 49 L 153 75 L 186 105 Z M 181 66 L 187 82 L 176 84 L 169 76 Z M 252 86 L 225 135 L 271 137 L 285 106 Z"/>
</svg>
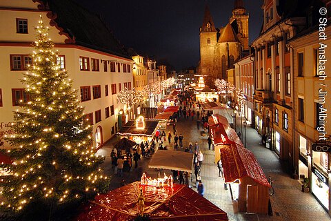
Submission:
<svg viewBox="0 0 331 221">
<path fill-rule="evenodd" d="M 192 173 L 193 155 L 183 151 L 159 150 L 152 156 L 149 168 L 187 171 Z"/>
</svg>

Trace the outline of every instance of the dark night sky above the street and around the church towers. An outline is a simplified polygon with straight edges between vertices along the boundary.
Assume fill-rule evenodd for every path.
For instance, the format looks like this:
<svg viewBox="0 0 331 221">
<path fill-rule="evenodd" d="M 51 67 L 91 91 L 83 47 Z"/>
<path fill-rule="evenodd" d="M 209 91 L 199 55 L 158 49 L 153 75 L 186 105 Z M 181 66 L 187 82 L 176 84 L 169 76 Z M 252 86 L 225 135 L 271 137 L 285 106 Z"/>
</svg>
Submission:
<svg viewBox="0 0 331 221">
<path fill-rule="evenodd" d="M 225 26 L 234 0 L 76 0 L 100 14 L 127 48 L 168 62 L 178 71 L 197 66 L 199 28 L 208 2 L 215 26 Z M 263 0 L 244 0 L 250 14 L 250 42 L 259 35 Z"/>
</svg>

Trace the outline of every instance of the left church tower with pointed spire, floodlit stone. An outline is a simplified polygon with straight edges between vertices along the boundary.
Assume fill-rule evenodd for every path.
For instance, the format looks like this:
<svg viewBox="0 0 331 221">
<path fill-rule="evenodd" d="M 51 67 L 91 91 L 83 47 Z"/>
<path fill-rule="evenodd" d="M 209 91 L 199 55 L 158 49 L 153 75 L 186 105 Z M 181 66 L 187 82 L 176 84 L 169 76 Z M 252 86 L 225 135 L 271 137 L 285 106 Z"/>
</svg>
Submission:
<svg viewBox="0 0 331 221">
<path fill-rule="evenodd" d="M 214 46 L 217 44 L 217 30 L 210 15 L 208 5 L 200 28 L 200 71 L 202 75 L 216 76 L 214 70 Z"/>
</svg>

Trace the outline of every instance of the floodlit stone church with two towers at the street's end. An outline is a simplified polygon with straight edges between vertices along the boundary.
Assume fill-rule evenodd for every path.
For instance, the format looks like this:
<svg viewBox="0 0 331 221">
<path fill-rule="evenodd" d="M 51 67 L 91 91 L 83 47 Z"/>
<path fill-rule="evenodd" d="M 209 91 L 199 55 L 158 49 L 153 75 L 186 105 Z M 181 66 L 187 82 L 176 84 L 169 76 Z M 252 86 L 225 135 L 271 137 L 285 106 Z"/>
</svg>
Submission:
<svg viewBox="0 0 331 221">
<path fill-rule="evenodd" d="M 197 72 L 208 75 L 207 84 L 212 85 L 217 78 L 227 80 L 226 70 L 233 67 L 243 50 L 248 50 L 248 18 L 243 1 L 235 0 L 229 23 L 217 28 L 208 6 L 205 6 Z"/>
</svg>

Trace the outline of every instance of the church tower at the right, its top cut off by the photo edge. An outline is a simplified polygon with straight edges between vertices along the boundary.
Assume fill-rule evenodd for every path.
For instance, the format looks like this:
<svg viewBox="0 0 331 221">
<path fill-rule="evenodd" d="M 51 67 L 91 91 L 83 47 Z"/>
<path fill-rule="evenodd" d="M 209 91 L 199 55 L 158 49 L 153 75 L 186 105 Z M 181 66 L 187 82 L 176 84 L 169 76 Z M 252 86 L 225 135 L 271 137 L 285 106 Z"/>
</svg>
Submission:
<svg viewBox="0 0 331 221">
<path fill-rule="evenodd" d="M 243 7 L 243 0 L 234 0 L 234 8 L 232 10 L 232 17 L 230 23 L 234 32 L 243 46 L 243 50 L 248 50 L 248 19 L 249 15 Z"/>
</svg>

